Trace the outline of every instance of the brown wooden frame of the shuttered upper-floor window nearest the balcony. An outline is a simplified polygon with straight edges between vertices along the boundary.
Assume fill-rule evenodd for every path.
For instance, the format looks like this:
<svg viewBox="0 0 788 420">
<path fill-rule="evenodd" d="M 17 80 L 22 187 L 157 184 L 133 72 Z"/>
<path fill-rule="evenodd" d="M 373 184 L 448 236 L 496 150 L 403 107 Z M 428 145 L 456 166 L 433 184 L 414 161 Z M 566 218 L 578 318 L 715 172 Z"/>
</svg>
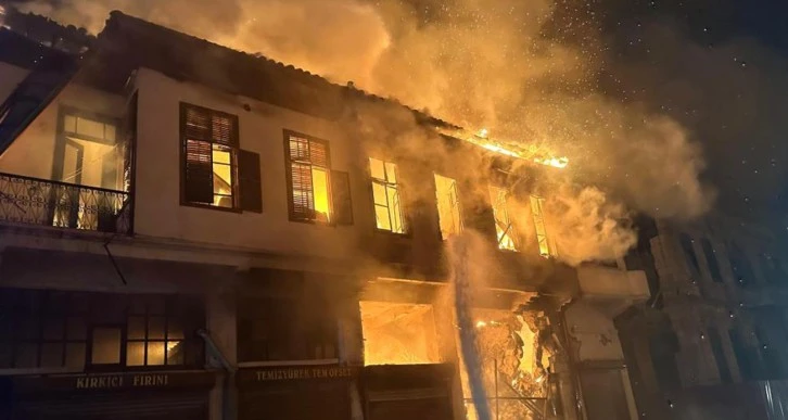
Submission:
<svg viewBox="0 0 788 420">
<path fill-rule="evenodd" d="M 240 200 L 240 191 L 239 191 L 239 170 L 238 170 L 238 155 L 241 152 L 241 143 L 240 143 L 240 127 L 239 127 L 239 117 L 236 114 L 226 113 L 218 110 L 212 110 L 205 106 L 195 105 L 193 103 L 188 102 L 180 102 L 179 103 L 180 109 L 180 118 L 179 118 L 179 149 L 180 149 L 180 205 L 185 207 L 195 207 L 195 208 L 207 208 L 207 209 L 215 209 L 220 212 L 229 212 L 229 213 L 242 213 L 243 209 L 241 208 L 241 200 Z M 220 147 L 226 147 L 230 149 L 230 171 L 232 176 L 232 207 L 223 207 L 218 205 L 213 204 L 206 204 L 206 203 L 199 203 L 199 202 L 192 202 L 188 201 L 186 199 L 186 186 L 187 186 L 187 141 L 189 140 L 187 138 L 187 130 L 186 130 L 186 114 L 187 110 L 194 109 L 202 112 L 207 112 L 208 115 L 218 115 L 230 118 L 230 120 L 233 123 L 232 132 L 231 132 L 231 139 L 230 144 L 224 144 L 219 143 L 213 140 L 195 140 L 201 141 L 205 143 L 211 144 L 211 176 L 212 176 L 212 195 L 216 195 L 213 193 L 213 151 L 214 145 L 218 144 Z M 193 140 L 193 139 L 192 139 Z"/>
</svg>

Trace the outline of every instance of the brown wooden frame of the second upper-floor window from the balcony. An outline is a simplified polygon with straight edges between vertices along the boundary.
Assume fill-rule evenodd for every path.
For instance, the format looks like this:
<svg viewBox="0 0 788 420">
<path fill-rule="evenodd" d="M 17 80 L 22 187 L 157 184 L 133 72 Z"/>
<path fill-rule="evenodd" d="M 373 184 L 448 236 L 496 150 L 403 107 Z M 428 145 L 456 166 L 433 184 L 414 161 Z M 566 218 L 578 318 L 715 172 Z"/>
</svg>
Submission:
<svg viewBox="0 0 788 420">
<path fill-rule="evenodd" d="M 287 201 L 288 201 L 288 220 L 289 221 L 293 221 L 293 222 L 300 222 L 300 224 L 309 224 L 309 225 L 321 225 L 321 226 L 335 227 L 336 226 L 336 220 L 335 220 L 335 217 L 334 217 L 335 216 L 334 215 L 335 214 L 335 209 L 334 209 L 333 192 L 332 192 L 332 188 L 331 188 L 331 186 L 332 186 L 332 178 L 333 178 L 333 176 L 332 176 L 333 169 L 332 169 L 332 165 L 331 165 L 331 147 L 330 147 L 330 142 L 328 140 L 325 140 L 325 139 L 320 139 L 320 138 L 317 138 L 317 137 L 314 137 L 314 136 L 305 135 L 303 132 L 298 132 L 298 131 L 294 131 L 294 130 L 290 130 L 290 129 L 282 130 L 282 137 L 283 137 L 283 147 L 284 147 L 284 173 L 285 173 L 284 182 L 287 183 L 287 191 L 285 192 L 288 194 L 287 195 Z M 327 166 L 323 167 L 323 166 L 320 166 L 320 165 L 315 165 L 315 164 L 312 163 L 312 160 L 309 161 L 309 164 L 308 165 L 309 165 L 309 175 L 310 175 L 310 177 L 314 177 L 313 166 L 321 167 L 321 168 L 323 168 L 326 170 L 326 177 L 327 177 L 326 178 L 327 179 L 327 181 L 326 181 L 326 188 L 327 188 L 326 193 L 327 193 L 327 198 L 328 198 L 328 201 L 329 201 L 329 203 L 328 203 L 329 204 L 329 219 L 328 219 L 328 221 L 320 221 L 316 217 L 307 219 L 307 218 L 300 218 L 300 217 L 296 217 L 295 216 L 294 203 L 293 203 L 293 200 L 294 200 L 294 195 L 293 194 L 294 194 L 294 190 L 295 190 L 293 188 L 293 167 L 292 167 L 293 161 L 291 160 L 291 155 L 290 155 L 290 140 L 293 137 L 307 140 L 309 143 L 312 143 L 312 142 L 320 143 L 320 144 L 322 144 L 326 148 L 326 165 Z M 313 208 L 312 208 L 312 211 L 315 212 L 315 208 L 314 208 L 315 207 L 315 186 L 314 184 L 312 186 L 312 196 L 313 196 Z"/>
</svg>

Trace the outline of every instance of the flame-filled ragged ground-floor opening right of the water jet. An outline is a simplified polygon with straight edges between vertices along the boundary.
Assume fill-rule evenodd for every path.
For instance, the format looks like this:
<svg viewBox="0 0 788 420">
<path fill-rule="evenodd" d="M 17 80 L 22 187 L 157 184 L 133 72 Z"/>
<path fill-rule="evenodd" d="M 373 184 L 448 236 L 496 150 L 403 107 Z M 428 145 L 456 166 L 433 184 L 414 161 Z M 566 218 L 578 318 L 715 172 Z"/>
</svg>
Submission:
<svg viewBox="0 0 788 420">
<path fill-rule="evenodd" d="M 546 385 L 545 376 L 537 369 L 535 360 L 535 332 L 528 320 L 508 310 L 474 309 L 473 322 L 482 364 L 482 383 L 492 418 L 532 418 L 534 403 L 529 398 L 544 397 Z M 458 355 L 462 366 L 460 381 L 467 419 L 476 420 L 462 353 Z M 547 359 L 548 355 L 544 353 L 545 367 L 548 366 Z M 496 408 L 499 412 L 495 412 Z"/>
</svg>

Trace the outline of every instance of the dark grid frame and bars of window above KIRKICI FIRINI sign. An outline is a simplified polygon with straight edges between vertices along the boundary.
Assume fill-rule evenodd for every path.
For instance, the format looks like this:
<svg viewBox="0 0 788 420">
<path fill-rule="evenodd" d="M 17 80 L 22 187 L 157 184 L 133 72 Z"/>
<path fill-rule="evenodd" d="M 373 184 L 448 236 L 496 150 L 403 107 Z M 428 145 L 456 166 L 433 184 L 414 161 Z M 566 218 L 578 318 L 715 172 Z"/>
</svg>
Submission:
<svg viewBox="0 0 788 420">
<path fill-rule="evenodd" d="M 13 296 L 23 296 L 25 303 L 20 306 L 0 307 L 0 317 L 8 317 L 14 326 L 29 326 L 29 328 L 12 327 L 9 336 L 0 336 L 0 344 L 8 346 L 8 366 L 0 365 L 0 371 L 80 371 L 80 372 L 105 372 L 105 371 L 158 371 L 158 370 L 183 370 L 200 369 L 204 365 L 206 348 L 202 339 L 192 334 L 192 328 L 204 328 L 205 307 L 204 302 L 194 296 L 182 294 L 150 294 L 135 293 L 123 295 L 118 293 L 87 292 L 87 291 L 63 291 L 63 290 L 37 290 L 24 288 L 0 288 L 0 293 L 13 293 Z M 64 303 L 60 309 L 52 309 L 52 296 L 60 296 Z M 129 298 L 130 296 L 130 298 Z M 96 313 L 97 302 L 105 302 L 107 298 L 116 300 L 116 303 L 124 305 L 118 315 L 122 318 L 105 320 Z M 162 365 L 128 365 L 127 349 L 129 343 L 141 340 L 129 340 L 130 319 L 140 317 L 135 311 L 135 306 L 143 304 L 145 329 L 148 329 L 148 314 L 151 314 L 151 302 L 154 300 L 160 304 L 162 310 L 152 314 L 153 317 L 164 318 L 164 339 L 148 340 L 147 331 L 144 343 L 163 342 L 165 346 L 164 362 Z M 198 309 L 199 304 L 199 309 Z M 163 306 L 162 306 L 163 305 Z M 48 338 L 46 335 L 46 320 L 55 319 L 60 323 L 60 336 Z M 78 336 L 71 336 L 69 320 L 76 319 L 81 322 L 81 333 Z M 181 339 L 174 339 L 183 344 L 183 354 L 179 364 L 167 364 L 167 339 L 169 335 L 169 323 L 177 322 L 180 326 Z M 97 329 L 117 329 L 120 333 L 119 362 L 117 364 L 94 364 L 93 362 L 93 333 Z M 16 330 L 16 331 L 14 331 Z M 59 345 L 61 348 L 60 364 L 43 364 L 45 347 L 47 345 Z M 81 361 L 77 365 L 69 365 L 68 346 L 82 345 Z M 17 365 L 18 354 L 24 346 L 35 347 L 35 352 L 28 354 L 33 364 Z M 24 352 L 24 351 L 22 351 Z M 24 353 L 23 353 L 24 354 Z"/>
</svg>

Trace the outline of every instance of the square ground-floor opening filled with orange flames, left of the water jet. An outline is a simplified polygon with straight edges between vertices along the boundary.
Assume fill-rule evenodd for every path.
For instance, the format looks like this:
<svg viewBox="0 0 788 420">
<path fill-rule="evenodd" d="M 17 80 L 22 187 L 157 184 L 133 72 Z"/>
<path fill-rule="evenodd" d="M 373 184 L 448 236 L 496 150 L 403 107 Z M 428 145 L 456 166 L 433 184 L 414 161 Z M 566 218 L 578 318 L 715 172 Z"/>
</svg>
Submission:
<svg viewBox="0 0 788 420">
<path fill-rule="evenodd" d="M 360 302 L 364 364 L 441 362 L 432 305 Z"/>
</svg>

